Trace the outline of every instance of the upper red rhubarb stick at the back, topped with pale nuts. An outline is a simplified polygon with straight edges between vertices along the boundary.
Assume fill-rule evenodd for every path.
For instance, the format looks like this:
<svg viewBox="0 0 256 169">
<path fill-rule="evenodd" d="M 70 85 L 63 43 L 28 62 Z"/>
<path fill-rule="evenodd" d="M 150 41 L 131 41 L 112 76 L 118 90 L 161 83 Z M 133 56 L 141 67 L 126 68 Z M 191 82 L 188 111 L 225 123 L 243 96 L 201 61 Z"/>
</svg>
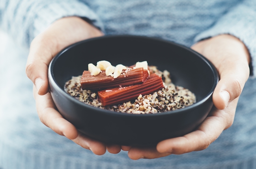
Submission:
<svg viewBox="0 0 256 169">
<path fill-rule="evenodd" d="M 98 75 L 91 75 L 89 71 L 84 71 L 80 84 L 82 90 L 104 90 L 107 88 L 116 88 L 120 86 L 130 86 L 145 82 L 149 77 L 148 70 L 136 68 L 132 70 L 123 70 L 117 78 L 106 76 L 105 71 Z"/>
</svg>

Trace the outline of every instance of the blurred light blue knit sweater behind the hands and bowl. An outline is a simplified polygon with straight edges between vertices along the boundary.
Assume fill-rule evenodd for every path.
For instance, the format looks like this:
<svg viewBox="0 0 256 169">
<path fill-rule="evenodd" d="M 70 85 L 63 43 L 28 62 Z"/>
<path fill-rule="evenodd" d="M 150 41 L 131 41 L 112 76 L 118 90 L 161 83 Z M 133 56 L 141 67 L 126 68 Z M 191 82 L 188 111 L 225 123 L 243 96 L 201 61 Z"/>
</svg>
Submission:
<svg viewBox="0 0 256 169">
<path fill-rule="evenodd" d="M 45 127 L 24 72 L 28 46 L 67 16 L 88 18 L 106 35 L 185 46 L 228 33 L 245 43 L 256 65 L 255 0 L 0 0 L 0 28 L 15 40 L 0 33 L 0 169 L 256 169 L 256 79 L 247 81 L 232 127 L 204 151 L 138 161 L 124 151 L 96 156 Z"/>
</svg>

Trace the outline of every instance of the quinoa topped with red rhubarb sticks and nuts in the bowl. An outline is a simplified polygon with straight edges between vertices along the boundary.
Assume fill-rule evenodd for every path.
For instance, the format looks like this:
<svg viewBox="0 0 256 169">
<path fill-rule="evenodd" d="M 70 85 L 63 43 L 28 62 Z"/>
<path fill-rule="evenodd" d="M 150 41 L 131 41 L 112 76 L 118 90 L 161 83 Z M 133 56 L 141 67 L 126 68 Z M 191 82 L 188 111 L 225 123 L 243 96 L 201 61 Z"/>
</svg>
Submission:
<svg viewBox="0 0 256 169">
<path fill-rule="evenodd" d="M 105 73 L 107 67 L 114 67 L 107 61 L 105 65 L 107 66 L 88 64 L 88 71 L 84 71 L 83 75 L 72 77 L 65 83 L 65 92 L 88 105 L 128 114 L 163 113 L 185 108 L 196 102 L 196 96 L 190 90 L 175 86 L 171 82 L 170 73 L 167 70 L 161 72 L 156 66 L 148 66 L 146 61 L 137 62 L 135 66 L 130 67 L 120 66 L 123 72 L 119 71 L 118 75 L 115 75 L 114 69 L 112 73 Z M 138 79 L 136 73 L 130 73 L 135 71 L 140 74 L 138 81 L 130 78 L 134 75 L 135 79 Z M 148 79 L 145 75 L 149 76 Z M 125 81 L 127 77 L 130 80 Z M 157 77 L 159 82 L 152 80 Z M 142 90 L 140 91 L 139 88 Z M 97 90 L 101 91 L 97 92 Z"/>
</svg>

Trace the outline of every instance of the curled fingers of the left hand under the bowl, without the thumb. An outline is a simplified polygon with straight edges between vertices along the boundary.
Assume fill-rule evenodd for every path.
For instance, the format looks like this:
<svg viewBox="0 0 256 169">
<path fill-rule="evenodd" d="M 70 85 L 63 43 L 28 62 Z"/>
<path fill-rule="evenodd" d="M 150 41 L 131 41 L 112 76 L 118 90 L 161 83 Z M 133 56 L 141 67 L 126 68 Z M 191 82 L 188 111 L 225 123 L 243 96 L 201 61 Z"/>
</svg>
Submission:
<svg viewBox="0 0 256 169">
<path fill-rule="evenodd" d="M 88 138 L 84 134 L 77 131 L 74 125 L 65 120 L 61 114 L 56 110 L 52 101 L 50 93 L 40 96 L 37 94 L 34 86 L 34 98 L 36 100 L 36 107 L 39 119 L 41 122 L 52 129 L 57 134 L 67 137 L 74 141 L 81 147 L 91 150 L 94 154 L 102 155 L 106 152 L 105 144 Z M 119 148 L 121 150 L 121 148 Z M 118 147 L 110 147 L 110 151 L 118 153 Z"/>
</svg>

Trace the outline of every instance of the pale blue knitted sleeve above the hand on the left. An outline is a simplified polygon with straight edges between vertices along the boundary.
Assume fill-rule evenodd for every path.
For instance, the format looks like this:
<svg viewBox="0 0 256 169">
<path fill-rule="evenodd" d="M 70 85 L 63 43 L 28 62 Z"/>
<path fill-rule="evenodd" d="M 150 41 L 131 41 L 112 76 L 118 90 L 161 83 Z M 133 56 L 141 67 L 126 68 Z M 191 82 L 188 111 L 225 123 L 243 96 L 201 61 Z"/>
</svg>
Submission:
<svg viewBox="0 0 256 169">
<path fill-rule="evenodd" d="M 97 15 L 78 0 L 0 0 L 0 28 L 25 46 L 52 22 L 68 16 L 89 19 L 103 29 Z"/>
</svg>

